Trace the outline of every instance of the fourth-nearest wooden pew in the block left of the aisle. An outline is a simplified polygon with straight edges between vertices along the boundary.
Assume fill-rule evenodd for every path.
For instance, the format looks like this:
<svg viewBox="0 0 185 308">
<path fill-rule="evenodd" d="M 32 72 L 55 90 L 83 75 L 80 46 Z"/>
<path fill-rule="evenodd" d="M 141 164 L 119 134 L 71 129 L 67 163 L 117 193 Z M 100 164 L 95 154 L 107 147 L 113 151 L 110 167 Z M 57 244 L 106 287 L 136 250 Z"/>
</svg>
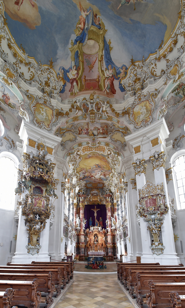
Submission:
<svg viewBox="0 0 185 308">
<path fill-rule="evenodd" d="M 12 272 L 12 270 L 14 270 L 14 273 L 28 273 L 28 274 L 49 274 L 49 272 L 52 272 L 53 273 L 53 276 L 52 276 L 52 282 L 54 282 L 54 284 L 56 285 L 56 297 L 58 297 L 58 295 L 61 293 L 61 286 L 62 288 L 65 288 L 66 284 L 65 284 L 65 281 L 63 280 L 63 284 L 62 284 L 62 271 L 59 267 L 56 267 L 56 268 L 42 268 L 40 269 L 39 267 L 38 268 L 35 268 L 33 266 L 0 266 L 0 272 L 1 273 L 4 273 L 5 270 L 8 270 L 6 271 L 6 273 L 9 273 L 10 270 Z M 66 270 L 66 269 L 65 269 Z"/>
</svg>

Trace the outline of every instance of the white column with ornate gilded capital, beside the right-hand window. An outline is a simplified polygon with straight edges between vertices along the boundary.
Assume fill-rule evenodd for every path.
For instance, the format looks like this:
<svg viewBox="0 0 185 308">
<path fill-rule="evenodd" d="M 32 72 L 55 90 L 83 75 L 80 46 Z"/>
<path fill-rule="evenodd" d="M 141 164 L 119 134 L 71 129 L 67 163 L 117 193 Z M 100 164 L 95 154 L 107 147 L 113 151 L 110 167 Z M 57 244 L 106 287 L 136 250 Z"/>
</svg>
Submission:
<svg viewBox="0 0 185 308">
<path fill-rule="evenodd" d="M 166 202 L 169 207 L 169 210 L 164 216 L 164 221 L 161 226 L 163 245 L 165 246 L 163 256 L 161 258 L 161 264 L 178 264 L 179 257 L 177 257 L 177 253 L 175 252 L 175 242 L 173 236 L 173 227 L 171 223 L 170 204 L 165 175 L 165 159 L 166 154 L 164 152 L 159 153 L 159 151 L 155 151 L 153 156 L 150 156 L 150 160 L 153 165 L 155 184 L 157 185 L 163 183 L 163 188 L 166 195 Z"/>
</svg>

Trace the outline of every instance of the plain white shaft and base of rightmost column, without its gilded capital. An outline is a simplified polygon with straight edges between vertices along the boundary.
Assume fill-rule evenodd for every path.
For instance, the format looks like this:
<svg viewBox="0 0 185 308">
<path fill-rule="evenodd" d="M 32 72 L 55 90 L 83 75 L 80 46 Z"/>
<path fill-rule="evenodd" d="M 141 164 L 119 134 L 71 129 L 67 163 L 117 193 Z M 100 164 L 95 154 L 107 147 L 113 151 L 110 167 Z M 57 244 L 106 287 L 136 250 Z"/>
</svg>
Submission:
<svg viewBox="0 0 185 308">
<path fill-rule="evenodd" d="M 164 168 L 161 167 L 159 168 L 159 170 L 154 169 L 154 176 L 156 185 L 163 182 L 167 205 L 170 208 Z M 161 262 L 162 262 L 161 264 L 179 264 L 180 263 L 179 257 L 177 257 L 177 253 L 175 252 L 175 242 L 173 236 L 170 210 L 164 216 L 164 222 L 163 225 L 161 226 L 161 231 L 163 237 L 163 245 L 165 246 L 163 256 L 161 257 Z"/>
</svg>

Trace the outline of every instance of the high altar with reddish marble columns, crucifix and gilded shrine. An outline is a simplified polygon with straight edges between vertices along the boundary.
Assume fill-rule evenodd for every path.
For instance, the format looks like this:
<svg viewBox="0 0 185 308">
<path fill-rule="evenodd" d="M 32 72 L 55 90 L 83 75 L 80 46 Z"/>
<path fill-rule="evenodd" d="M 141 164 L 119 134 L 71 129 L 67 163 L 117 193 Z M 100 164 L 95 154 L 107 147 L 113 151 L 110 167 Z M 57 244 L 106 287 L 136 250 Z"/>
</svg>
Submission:
<svg viewBox="0 0 185 308">
<path fill-rule="evenodd" d="M 87 256 L 115 255 L 116 203 L 110 201 L 110 196 L 103 198 L 104 200 L 100 200 L 98 196 L 87 197 L 83 194 L 79 197 L 76 217 L 80 218 L 80 225 L 76 222 L 76 253 Z M 103 204 L 95 204 L 95 201 L 103 201 Z"/>
</svg>

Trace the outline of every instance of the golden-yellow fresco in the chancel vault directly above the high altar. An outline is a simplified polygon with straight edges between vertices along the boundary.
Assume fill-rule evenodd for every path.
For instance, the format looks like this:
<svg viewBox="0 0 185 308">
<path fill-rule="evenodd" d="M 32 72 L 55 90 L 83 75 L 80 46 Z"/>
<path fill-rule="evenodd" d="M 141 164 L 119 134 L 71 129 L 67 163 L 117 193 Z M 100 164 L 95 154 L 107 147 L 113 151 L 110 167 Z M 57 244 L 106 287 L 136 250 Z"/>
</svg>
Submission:
<svg viewBox="0 0 185 308">
<path fill-rule="evenodd" d="M 82 155 L 77 168 L 79 180 L 92 183 L 103 183 L 111 173 L 111 168 L 105 155 L 96 152 Z"/>
</svg>

